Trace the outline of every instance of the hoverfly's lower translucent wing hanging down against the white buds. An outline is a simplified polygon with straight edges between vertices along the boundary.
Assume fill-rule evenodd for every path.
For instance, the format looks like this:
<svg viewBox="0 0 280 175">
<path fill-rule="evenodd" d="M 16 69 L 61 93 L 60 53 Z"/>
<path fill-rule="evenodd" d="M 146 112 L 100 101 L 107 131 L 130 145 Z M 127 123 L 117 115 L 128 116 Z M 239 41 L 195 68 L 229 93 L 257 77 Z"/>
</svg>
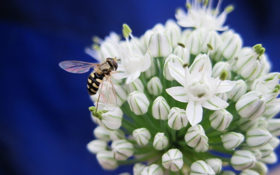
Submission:
<svg viewBox="0 0 280 175">
<path fill-rule="evenodd" d="M 104 77 L 105 80 L 99 87 L 102 103 L 109 111 L 114 111 L 117 106 L 117 96 L 111 75 Z"/>
</svg>

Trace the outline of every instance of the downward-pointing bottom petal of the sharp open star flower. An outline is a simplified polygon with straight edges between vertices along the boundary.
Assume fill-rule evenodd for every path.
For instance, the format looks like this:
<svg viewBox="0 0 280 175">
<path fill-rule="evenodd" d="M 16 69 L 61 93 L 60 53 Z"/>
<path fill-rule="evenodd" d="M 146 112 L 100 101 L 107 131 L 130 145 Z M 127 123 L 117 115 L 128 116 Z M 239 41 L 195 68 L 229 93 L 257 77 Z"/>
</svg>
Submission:
<svg viewBox="0 0 280 175">
<path fill-rule="evenodd" d="M 202 120 L 202 106 L 196 101 L 190 100 L 186 108 L 186 116 L 189 123 L 195 126 Z"/>
</svg>

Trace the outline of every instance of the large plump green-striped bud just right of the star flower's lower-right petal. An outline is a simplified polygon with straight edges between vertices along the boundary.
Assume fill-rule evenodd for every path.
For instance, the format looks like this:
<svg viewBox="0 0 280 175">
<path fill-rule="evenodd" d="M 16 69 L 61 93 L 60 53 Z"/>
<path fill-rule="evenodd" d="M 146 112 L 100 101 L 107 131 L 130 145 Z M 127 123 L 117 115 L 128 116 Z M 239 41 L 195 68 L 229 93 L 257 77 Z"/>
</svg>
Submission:
<svg viewBox="0 0 280 175">
<path fill-rule="evenodd" d="M 254 120 L 265 112 L 265 98 L 258 91 L 250 91 L 239 98 L 235 108 L 241 117 Z"/>
</svg>

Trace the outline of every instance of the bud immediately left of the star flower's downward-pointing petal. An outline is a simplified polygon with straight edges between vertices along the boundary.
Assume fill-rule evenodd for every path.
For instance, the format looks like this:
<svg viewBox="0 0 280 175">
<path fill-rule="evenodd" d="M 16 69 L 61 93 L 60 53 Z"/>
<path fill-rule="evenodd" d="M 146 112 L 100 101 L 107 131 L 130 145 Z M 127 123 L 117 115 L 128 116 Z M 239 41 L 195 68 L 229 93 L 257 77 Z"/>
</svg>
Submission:
<svg viewBox="0 0 280 175">
<path fill-rule="evenodd" d="M 179 130 L 187 126 L 188 124 L 186 111 L 177 107 L 173 107 L 170 109 L 167 118 L 168 118 L 168 126 L 175 130 Z"/>
</svg>

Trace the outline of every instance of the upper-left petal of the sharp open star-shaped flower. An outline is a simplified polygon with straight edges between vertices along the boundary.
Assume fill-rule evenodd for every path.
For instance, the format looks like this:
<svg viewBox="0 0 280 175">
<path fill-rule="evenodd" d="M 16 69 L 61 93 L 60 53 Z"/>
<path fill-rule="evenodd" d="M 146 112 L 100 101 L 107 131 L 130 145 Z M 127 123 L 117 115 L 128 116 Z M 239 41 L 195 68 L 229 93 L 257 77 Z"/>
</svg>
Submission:
<svg viewBox="0 0 280 175">
<path fill-rule="evenodd" d="M 182 86 L 185 85 L 185 70 L 184 68 L 176 63 L 168 63 L 170 75 L 178 81 Z"/>
</svg>

